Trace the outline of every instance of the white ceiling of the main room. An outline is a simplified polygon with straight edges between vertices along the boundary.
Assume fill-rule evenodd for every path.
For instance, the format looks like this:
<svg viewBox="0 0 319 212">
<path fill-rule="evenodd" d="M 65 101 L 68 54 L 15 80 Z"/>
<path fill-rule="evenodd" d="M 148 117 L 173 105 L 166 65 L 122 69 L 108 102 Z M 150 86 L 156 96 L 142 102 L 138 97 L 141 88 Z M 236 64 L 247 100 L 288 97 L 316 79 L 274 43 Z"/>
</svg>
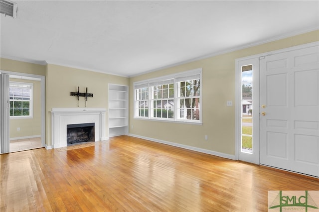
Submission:
<svg viewBox="0 0 319 212">
<path fill-rule="evenodd" d="M 0 56 L 120 76 L 319 29 L 319 1 L 14 0 Z"/>
</svg>

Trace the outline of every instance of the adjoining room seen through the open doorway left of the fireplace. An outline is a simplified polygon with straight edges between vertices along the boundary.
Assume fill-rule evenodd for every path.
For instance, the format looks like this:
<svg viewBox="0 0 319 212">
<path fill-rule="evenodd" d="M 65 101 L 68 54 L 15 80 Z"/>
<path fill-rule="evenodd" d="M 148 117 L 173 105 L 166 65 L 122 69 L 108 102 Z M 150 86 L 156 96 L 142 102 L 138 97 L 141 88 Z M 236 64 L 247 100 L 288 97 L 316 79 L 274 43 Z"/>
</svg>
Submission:
<svg viewBox="0 0 319 212">
<path fill-rule="evenodd" d="M 41 80 L 9 75 L 9 152 L 41 148 Z"/>
</svg>

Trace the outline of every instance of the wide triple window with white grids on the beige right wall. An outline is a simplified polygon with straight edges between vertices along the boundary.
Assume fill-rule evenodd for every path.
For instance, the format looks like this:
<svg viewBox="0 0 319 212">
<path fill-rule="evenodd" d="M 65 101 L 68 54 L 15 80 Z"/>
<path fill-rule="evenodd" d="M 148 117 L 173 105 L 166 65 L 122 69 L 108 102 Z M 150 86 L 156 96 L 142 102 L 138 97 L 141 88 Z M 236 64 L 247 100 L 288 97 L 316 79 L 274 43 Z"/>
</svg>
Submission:
<svg viewBox="0 0 319 212">
<path fill-rule="evenodd" d="M 201 69 L 134 83 L 135 117 L 201 121 Z"/>
</svg>

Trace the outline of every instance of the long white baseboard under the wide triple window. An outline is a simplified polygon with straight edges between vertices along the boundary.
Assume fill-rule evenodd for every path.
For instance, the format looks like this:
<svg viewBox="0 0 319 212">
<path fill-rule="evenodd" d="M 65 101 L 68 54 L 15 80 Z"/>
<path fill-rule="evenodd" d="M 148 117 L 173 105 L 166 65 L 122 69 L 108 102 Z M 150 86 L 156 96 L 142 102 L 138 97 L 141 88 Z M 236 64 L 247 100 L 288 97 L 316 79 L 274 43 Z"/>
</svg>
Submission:
<svg viewBox="0 0 319 212">
<path fill-rule="evenodd" d="M 157 142 L 157 143 L 167 144 L 167 145 L 170 145 L 170 146 L 180 147 L 180 148 L 183 148 L 183 149 L 193 150 L 193 151 L 196 151 L 196 152 L 201 152 L 201 153 L 214 155 L 214 156 L 218 156 L 218 157 L 222 157 L 222 158 L 228 158 L 228 159 L 231 159 L 231 160 L 235 160 L 235 155 L 229 155 L 229 154 L 225 154 L 225 153 L 221 153 L 221 152 L 215 152 L 215 151 L 208 150 L 208 149 L 202 149 L 202 148 L 197 148 L 197 147 L 188 146 L 188 145 L 184 145 L 184 144 L 173 143 L 173 142 L 170 142 L 170 141 L 164 141 L 164 140 L 160 140 L 160 139 L 149 138 L 149 137 L 145 137 L 145 136 L 141 136 L 141 135 L 129 134 L 129 136 L 136 137 L 136 138 L 142 138 L 142 139 L 146 139 L 146 140 L 150 140 L 150 141 L 154 141 L 154 142 Z"/>
</svg>

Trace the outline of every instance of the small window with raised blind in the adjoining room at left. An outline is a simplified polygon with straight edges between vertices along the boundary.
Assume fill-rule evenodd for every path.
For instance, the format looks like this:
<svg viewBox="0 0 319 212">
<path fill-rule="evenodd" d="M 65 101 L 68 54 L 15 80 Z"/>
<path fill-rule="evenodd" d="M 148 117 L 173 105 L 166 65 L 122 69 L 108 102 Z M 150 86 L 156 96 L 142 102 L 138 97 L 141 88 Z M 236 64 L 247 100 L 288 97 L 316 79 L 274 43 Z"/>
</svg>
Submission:
<svg viewBox="0 0 319 212">
<path fill-rule="evenodd" d="M 31 83 L 10 82 L 10 117 L 32 117 L 32 87 Z"/>
</svg>

